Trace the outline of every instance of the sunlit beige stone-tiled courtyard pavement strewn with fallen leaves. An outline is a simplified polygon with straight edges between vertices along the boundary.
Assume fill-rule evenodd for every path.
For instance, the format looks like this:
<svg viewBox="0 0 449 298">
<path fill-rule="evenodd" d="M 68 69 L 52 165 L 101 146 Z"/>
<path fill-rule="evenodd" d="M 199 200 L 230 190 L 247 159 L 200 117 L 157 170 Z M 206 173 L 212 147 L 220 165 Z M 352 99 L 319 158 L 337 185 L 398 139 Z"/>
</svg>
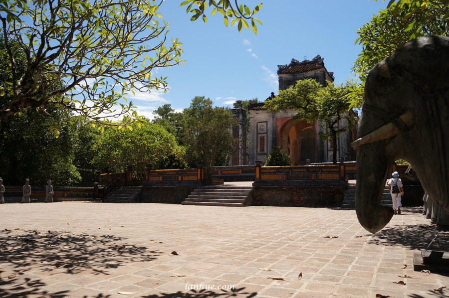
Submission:
<svg viewBox="0 0 449 298">
<path fill-rule="evenodd" d="M 421 208 L 372 235 L 338 208 L 3 204 L 0 230 L 1 298 L 449 297 L 413 271 Z"/>
</svg>

